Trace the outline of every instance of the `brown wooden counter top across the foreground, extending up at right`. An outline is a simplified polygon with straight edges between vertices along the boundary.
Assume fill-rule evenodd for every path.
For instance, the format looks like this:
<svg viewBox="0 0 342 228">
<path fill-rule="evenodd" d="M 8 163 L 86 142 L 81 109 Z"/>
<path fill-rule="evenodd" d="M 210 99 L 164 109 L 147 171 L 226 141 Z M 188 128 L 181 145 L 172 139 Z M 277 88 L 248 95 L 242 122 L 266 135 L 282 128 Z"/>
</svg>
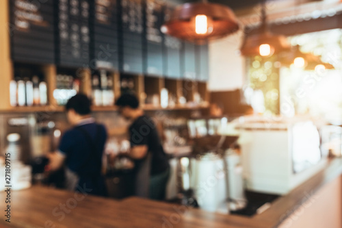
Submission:
<svg viewBox="0 0 342 228">
<path fill-rule="evenodd" d="M 332 160 L 325 170 L 309 179 L 284 197 L 280 197 L 265 212 L 252 217 L 209 213 L 202 210 L 172 205 L 147 199 L 129 198 L 123 201 L 92 197 L 82 194 L 34 186 L 12 192 L 11 223 L 1 215 L 0 227 L 148 227 L 148 228 L 195 228 L 195 227 L 277 227 L 287 212 L 308 199 L 328 181 L 342 173 L 342 160 Z M 5 193 L 0 193 L 4 205 Z M 61 206 L 69 205 L 63 212 Z M 74 208 L 72 208 L 74 207 Z M 4 208 L 4 206 L 3 206 Z M 1 211 L 3 212 L 3 208 Z M 55 214 L 55 215 L 54 215 Z M 64 216 L 63 216 L 64 215 Z"/>
</svg>

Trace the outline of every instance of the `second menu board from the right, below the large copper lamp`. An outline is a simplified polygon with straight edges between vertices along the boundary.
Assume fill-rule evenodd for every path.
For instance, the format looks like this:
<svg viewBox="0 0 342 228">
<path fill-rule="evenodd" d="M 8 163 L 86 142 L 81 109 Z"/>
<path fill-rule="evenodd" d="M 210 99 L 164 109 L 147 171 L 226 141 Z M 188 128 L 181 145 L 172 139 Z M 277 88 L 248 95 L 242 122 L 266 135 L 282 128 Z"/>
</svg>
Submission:
<svg viewBox="0 0 342 228">
<path fill-rule="evenodd" d="M 196 45 L 192 42 L 183 42 L 183 77 L 196 79 Z"/>
</svg>

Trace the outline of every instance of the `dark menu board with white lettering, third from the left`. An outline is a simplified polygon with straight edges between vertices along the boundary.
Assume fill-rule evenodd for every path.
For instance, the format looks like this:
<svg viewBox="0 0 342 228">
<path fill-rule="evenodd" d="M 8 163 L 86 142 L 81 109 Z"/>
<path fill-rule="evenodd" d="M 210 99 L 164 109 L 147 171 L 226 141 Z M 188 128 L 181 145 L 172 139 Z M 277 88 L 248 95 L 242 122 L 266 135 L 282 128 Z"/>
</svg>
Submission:
<svg viewBox="0 0 342 228">
<path fill-rule="evenodd" d="M 118 1 L 92 0 L 91 6 L 90 67 L 118 69 Z"/>
</svg>

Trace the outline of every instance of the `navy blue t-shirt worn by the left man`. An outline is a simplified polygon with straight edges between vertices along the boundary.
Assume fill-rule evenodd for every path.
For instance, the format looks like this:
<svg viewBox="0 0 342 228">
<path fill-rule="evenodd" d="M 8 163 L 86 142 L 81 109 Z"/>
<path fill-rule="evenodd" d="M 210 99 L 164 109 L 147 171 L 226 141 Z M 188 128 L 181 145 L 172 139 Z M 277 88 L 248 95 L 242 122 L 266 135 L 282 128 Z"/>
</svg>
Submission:
<svg viewBox="0 0 342 228">
<path fill-rule="evenodd" d="M 97 126 L 99 126 L 99 128 Z M 100 135 L 98 136 L 98 143 L 96 144 L 96 152 L 98 153 L 96 159 L 101 161 L 102 164 L 103 151 L 107 140 L 107 130 L 105 129 L 105 126 L 97 125 L 96 123 L 88 123 L 78 127 L 82 127 L 86 130 L 94 141 L 96 138 L 96 131 L 100 131 L 97 133 Z M 59 150 L 66 155 L 66 166 L 78 175 L 88 176 L 96 173 L 96 164 L 98 163 L 88 162 L 91 153 L 90 145 L 91 144 L 88 142 L 86 136 L 84 136 L 84 133 L 77 129 L 77 127 L 66 131 L 62 137 Z M 87 162 L 88 164 L 85 166 Z"/>
</svg>

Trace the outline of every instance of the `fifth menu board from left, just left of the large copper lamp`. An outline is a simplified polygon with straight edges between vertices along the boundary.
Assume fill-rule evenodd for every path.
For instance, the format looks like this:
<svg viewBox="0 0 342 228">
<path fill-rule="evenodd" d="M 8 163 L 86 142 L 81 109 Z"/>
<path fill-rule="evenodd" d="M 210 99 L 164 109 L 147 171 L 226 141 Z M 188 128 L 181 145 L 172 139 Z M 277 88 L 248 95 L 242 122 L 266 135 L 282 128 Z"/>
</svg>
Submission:
<svg viewBox="0 0 342 228">
<path fill-rule="evenodd" d="M 146 73 L 163 75 L 163 3 L 146 0 Z"/>
</svg>

